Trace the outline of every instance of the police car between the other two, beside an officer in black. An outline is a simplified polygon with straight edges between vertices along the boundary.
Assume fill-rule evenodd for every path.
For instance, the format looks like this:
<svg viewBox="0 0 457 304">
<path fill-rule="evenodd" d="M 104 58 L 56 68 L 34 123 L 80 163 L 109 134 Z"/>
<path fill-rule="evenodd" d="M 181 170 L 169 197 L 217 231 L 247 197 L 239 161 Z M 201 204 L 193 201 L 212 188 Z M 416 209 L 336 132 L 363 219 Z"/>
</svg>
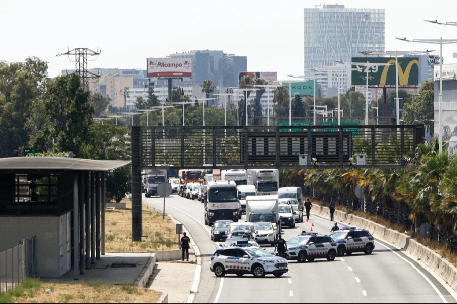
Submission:
<svg viewBox="0 0 457 304">
<path fill-rule="evenodd" d="M 287 242 L 287 249 L 286 258 L 298 262 L 305 260 L 312 262 L 315 258 L 333 261 L 337 254 L 336 243 L 331 237 L 315 233 L 302 233 L 293 237 Z"/>
</svg>

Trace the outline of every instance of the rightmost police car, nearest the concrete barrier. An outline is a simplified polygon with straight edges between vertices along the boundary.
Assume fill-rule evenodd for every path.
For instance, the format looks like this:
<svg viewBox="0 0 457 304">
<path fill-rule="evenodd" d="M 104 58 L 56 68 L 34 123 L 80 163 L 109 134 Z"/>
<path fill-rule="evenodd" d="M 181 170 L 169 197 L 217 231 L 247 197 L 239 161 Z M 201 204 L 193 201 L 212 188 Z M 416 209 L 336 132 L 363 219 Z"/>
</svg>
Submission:
<svg viewBox="0 0 457 304">
<path fill-rule="evenodd" d="M 352 252 L 364 252 L 371 254 L 374 249 L 374 238 L 365 229 L 356 229 L 347 227 L 343 230 L 337 230 L 330 234 L 337 243 L 337 253 L 339 256 L 351 255 Z"/>
</svg>

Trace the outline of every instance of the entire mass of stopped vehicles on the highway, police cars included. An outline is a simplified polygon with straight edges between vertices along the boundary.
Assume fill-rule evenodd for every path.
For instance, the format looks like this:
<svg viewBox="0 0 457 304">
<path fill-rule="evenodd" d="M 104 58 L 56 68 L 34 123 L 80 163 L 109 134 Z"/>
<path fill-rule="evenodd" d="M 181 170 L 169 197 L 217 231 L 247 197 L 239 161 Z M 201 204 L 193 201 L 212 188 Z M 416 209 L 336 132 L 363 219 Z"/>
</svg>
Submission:
<svg viewBox="0 0 457 304">
<path fill-rule="evenodd" d="M 290 260 L 333 261 L 354 252 L 371 254 L 375 247 L 369 231 L 337 223 L 329 235 L 311 226 L 308 232 L 283 239 L 286 229 L 308 222 L 312 203 L 304 199 L 300 187 L 278 187 L 277 169 L 179 170 L 178 175 L 168 179 L 173 192 L 204 204 L 211 241 L 220 242 L 211 256 L 210 269 L 216 277 L 280 277 L 288 272 Z M 165 180 L 165 169 L 148 172 L 143 179 L 146 196 L 155 195 Z"/>
</svg>

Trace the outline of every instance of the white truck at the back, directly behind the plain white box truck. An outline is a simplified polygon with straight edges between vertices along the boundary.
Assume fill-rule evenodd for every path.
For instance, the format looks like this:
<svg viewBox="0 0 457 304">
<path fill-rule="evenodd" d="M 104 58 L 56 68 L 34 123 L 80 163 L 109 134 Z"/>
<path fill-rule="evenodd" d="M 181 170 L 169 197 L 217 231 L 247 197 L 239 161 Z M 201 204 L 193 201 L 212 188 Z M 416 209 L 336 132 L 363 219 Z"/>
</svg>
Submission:
<svg viewBox="0 0 457 304">
<path fill-rule="evenodd" d="M 274 195 L 278 193 L 278 169 L 248 169 L 247 184 L 254 185 L 257 195 Z"/>
</svg>

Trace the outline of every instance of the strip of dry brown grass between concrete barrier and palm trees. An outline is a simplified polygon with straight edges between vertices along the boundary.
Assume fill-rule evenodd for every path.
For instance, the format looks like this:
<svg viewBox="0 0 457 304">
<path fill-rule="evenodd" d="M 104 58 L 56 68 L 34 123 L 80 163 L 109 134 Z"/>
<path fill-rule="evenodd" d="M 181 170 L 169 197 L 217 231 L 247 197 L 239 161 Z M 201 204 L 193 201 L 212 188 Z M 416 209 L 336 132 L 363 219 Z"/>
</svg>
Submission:
<svg viewBox="0 0 457 304">
<path fill-rule="evenodd" d="M 316 200 L 316 203 L 321 206 L 327 206 L 327 204 L 325 204 L 321 201 Z M 393 222 L 389 221 L 388 219 L 385 219 L 379 215 L 372 215 L 372 214 L 364 213 L 360 210 L 353 210 L 353 209 L 347 208 L 345 206 L 336 206 L 336 210 L 366 218 L 375 223 L 388 227 L 392 230 L 407 234 L 407 235 L 411 236 L 413 239 L 415 239 L 416 241 L 418 241 L 419 243 L 421 243 L 422 245 L 425 245 L 428 248 L 434 250 L 439 255 L 441 255 L 443 258 L 447 259 L 455 267 L 457 267 L 457 252 L 446 247 L 446 245 L 443 243 L 438 243 L 436 240 L 430 240 L 430 239 L 420 236 L 419 234 L 411 233 L 411 231 L 408 229 L 408 227 L 398 224 L 398 223 L 393 223 Z"/>
</svg>

